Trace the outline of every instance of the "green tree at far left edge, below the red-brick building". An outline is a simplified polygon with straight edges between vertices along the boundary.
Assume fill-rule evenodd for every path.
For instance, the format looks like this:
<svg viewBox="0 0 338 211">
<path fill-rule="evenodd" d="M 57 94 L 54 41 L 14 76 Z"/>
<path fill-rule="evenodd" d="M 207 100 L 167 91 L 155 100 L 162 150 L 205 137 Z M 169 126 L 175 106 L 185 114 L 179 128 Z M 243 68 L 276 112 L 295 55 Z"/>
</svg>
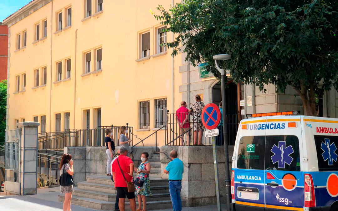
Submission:
<svg viewBox="0 0 338 211">
<path fill-rule="evenodd" d="M 0 145 L 5 142 L 7 105 L 7 80 L 0 82 Z"/>
</svg>

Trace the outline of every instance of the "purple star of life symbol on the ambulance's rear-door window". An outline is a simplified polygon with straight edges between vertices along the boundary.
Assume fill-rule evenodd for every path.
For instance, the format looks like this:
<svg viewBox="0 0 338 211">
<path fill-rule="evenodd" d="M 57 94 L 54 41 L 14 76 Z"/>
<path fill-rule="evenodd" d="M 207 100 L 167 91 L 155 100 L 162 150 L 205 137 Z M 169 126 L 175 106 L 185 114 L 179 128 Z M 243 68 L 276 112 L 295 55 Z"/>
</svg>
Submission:
<svg viewBox="0 0 338 211">
<path fill-rule="evenodd" d="M 278 168 L 285 168 L 285 163 L 291 165 L 293 158 L 290 155 L 294 153 L 294 151 L 291 145 L 286 147 L 285 141 L 279 141 L 278 147 L 276 144 L 273 144 L 271 152 L 274 153 L 274 155 L 271 156 L 272 163 L 275 164 L 278 162 Z"/>
</svg>

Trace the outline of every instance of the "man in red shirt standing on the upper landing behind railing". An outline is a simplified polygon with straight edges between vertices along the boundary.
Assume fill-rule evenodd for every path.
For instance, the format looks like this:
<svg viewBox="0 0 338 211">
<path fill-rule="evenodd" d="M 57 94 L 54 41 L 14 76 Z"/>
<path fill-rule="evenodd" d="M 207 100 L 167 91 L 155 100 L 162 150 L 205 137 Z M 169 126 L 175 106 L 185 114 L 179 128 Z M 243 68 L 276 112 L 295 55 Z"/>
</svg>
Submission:
<svg viewBox="0 0 338 211">
<path fill-rule="evenodd" d="M 181 102 L 181 107 L 176 110 L 176 121 L 179 123 L 179 140 L 181 145 L 183 145 L 183 137 L 187 137 L 187 145 L 190 144 L 190 132 L 187 132 L 190 129 L 189 124 L 189 109 L 187 108 L 186 101 Z"/>
</svg>

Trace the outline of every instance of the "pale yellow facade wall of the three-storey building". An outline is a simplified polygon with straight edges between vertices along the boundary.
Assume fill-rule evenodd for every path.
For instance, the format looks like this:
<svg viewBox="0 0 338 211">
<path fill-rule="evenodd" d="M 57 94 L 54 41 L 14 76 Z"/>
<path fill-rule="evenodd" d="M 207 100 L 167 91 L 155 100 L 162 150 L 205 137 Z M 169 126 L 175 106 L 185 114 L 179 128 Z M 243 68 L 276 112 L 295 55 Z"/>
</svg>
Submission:
<svg viewBox="0 0 338 211">
<path fill-rule="evenodd" d="M 92 9 L 94 10 L 94 0 Z M 35 0 L 27 6 L 27 11 L 6 20 L 10 25 L 9 58 L 9 110 L 8 129 L 15 128 L 15 120 L 25 118 L 33 121 L 33 116 L 46 115 L 46 132 L 55 131 L 55 114 L 61 113 L 61 130 L 64 129 L 64 113 L 70 112 L 70 128 L 86 128 L 86 110 L 90 110 L 90 128 L 95 128 L 95 111 L 101 108 L 102 126 L 120 126 L 129 123 L 134 131 L 139 129 L 139 102 L 150 101 L 149 129 L 137 132 L 144 138 L 154 132 L 154 100 L 167 98 L 167 108 L 179 104 L 178 89 L 179 58 L 167 53 L 157 54 L 156 29 L 161 26 L 150 13 L 156 11 L 158 2 L 104 1 L 103 12 L 84 19 L 83 1 L 72 0 Z M 161 2 L 169 8 L 172 1 Z M 72 7 L 72 25 L 58 31 L 57 12 Z M 31 8 L 30 8 L 31 7 Z M 128 12 L 125 9 L 128 8 Z M 34 12 L 32 12 L 34 11 Z M 46 39 L 34 42 L 34 24 L 47 18 Z M 19 20 L 19 21 L 18 21 Z M 63 25 L 65 27 L 65 16 Z M 41 23 L 40 23 L 41 26 Z M 27 30 L 26 48 L 16 50 L 16 34 Z M 149 59 L 139 59 L 140 33 L 150 30 Z M 172 40 L 172 34 L 167 34 Z M 84 74 L 84 53 L 102 47 L 102 71 Z M 63 79 L 65 61 L 71 58 L 70 80 L 56 82 L 56 65 L 62 61 Z M 94 62 L 91 62 L 94 70 Z M 34 70 L 47 67 L 47 84 L 34 87 Z M 172 70 L 174 68 L 174 74 Z M 177 73 L 176 73 L 177 72 Z M 26 73 L 26 89 L 16 92 L 15 78 Z M 172 83 L 174 82 L 174 86 Z M 174 90 L 174 96 L 172 95 Z M 173 98 L 176 101 L 173 101 Z M 41 131 L 41 127 L 39 128 Z M 161 137 L 164 137 L 164 131 Z M 158 140 L 159 145 L 164 140 Z M 152 145 L 150 138 L 145 145 Z"/>
</svg>

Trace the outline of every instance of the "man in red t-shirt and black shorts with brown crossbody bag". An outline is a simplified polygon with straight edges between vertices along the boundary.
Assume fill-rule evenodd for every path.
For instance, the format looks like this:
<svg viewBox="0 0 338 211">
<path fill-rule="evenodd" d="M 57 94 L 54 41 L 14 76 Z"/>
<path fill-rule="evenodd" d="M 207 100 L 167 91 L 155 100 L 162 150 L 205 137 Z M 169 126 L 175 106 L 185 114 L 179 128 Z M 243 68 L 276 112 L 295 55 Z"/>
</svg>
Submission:
<svg viewBox="0 0 338 211">
<path fill-rule="evenodd" d="M 125 147 L 120 148 L 120 156 L 113 162 L 112 165 L 112 173 L 113 179 L 115 181 L 115 189 L 117 190 L 117 195 L 119 197 L 119 209 L 120 211 L 124 211 L 124 202 L 126 196 L 130 203 L 130 208 L 132 211 L 136 211 L 136 202 L 135 202 L 135 194 L 134 192 L 128 193 L 127 183 L 124 180 L 126 178 L 127 182 L 132 181 L 132 173 L 134 172 L 134 163 L 132 160 L 127 157 L 128 150 Z M 122 168 L 123 175 L 121 172 Z"/>
</svg>

